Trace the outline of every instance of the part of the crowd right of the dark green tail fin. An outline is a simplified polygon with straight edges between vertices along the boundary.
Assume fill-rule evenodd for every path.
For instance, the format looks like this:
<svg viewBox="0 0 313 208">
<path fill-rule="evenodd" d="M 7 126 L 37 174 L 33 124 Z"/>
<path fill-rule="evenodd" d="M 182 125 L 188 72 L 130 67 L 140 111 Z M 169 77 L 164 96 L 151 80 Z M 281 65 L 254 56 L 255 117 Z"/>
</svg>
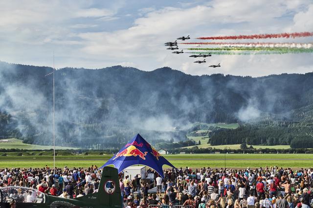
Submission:
<svg viewBox="0 0 313 208">
<path fill-rule="evenodd" d="M 165 170 L 164 175 L 164 179 L 156 177 L 156 193 L 149 194 L 147 185 L 138 192 L 137 177 L 120 180 L 124 207 L 311 208 L 313 205 L 313 169 L 186 167 Z"/>
</svg>

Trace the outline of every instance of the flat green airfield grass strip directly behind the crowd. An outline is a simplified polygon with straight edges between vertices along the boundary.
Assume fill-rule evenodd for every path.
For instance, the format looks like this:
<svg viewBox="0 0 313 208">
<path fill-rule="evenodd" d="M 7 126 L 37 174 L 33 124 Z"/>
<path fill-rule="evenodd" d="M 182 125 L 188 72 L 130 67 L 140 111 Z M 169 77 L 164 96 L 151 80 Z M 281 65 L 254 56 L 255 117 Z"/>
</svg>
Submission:
<svg viewBox="0 0 313 208">
<path fill-rule="evenodd" d="M 84 167 L 102 166 L 112 155 L 74 155 L 56 156 L 56 166 Z M 0 156 L 0 168 L 43 168 L 53 166 L 53 157 L 43 156 Z M 291 168 L 313 167 L 313 154 L 175 154 L 165 155 L 175 167 L 224 167 L 227 168 L 257 168 L 279 166 Z M 226 159 L 226 160 L 224 160 Z M 164 168 L 166 168 L 164 166 Z"/>
</svg>

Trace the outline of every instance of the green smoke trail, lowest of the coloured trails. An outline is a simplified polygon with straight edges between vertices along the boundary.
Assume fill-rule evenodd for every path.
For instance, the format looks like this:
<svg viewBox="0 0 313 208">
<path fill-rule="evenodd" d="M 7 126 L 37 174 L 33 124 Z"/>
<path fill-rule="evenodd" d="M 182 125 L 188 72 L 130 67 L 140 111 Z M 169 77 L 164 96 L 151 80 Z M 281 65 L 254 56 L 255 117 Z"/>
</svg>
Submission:
<svg viewBox="0 0 313 208">
<path fill-rule="evenodd" d="M 313 48 L 287 48 L 287 47 L 220 47 L 220 48 L 187 48 L 187 50 L 197 50 L 197 51 L 268 51 L 277 52 L 277 54 L 297 54 L 297 53 L 312 53 Z"/>
</svg>

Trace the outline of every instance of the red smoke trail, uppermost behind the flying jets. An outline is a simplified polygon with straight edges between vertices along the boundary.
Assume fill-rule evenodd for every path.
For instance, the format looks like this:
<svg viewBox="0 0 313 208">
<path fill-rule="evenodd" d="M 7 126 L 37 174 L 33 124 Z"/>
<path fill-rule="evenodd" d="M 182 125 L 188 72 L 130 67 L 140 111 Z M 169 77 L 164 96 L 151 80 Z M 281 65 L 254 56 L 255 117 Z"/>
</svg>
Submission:
<svg viewBox="0 0 313 208">
<path fill-rule="evenodd" d="M 280 34 L 260 34 L 260 35 L 240 35 L 240 36 L 212 36 L 212 37 L 200 37 L 197 39 L 265 39 L 265 38 L 301 38 L 311 37 L 312 32 L 302 33 L 280 33 Z"/>
</svg>

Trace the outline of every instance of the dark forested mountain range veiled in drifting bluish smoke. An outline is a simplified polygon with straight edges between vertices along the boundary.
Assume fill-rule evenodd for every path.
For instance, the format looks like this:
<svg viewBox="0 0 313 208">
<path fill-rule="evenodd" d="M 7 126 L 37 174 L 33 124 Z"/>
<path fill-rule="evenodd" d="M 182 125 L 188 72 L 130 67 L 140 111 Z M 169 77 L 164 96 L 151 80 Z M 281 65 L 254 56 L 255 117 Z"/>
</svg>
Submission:
<svg viewBox="0 0 313 208">
<path fill-rule="evenodd" d="M 0 62 L 0 136 L 51 144 L 51 72 Z M 168 67 L 112 66 L 63 68 L 55 80 L 59 146 L 119 147 L 137 132 L 154 141 L 185 140 L 194 122 L 313 122 L 313 73 L 191 76 Z"/>
</svg>

